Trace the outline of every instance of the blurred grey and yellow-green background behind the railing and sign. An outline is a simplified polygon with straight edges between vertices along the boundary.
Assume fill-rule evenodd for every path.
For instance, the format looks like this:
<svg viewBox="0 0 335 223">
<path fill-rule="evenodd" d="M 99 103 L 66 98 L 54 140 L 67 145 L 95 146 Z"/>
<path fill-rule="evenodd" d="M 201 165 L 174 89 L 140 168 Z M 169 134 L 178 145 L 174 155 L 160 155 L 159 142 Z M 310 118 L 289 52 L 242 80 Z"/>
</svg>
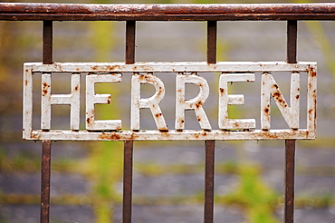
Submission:
<svg viewBox="0 0 335 223">
<path fill-rule="evenodd" d="M 264 1 L 72 0 L 71 3 Z M 125 22 L 54 22 L 53 27 L 55 62 L 124 61 Z M 206 61 L 206 22 L 138 22 L 136 44 L 138 62 Z M 286 22 L 218 22 L 218 61 L 284 61 L 285 58 Z M 318 63 L 318 129 L 317 140 L 297 141 L 294 218 L 295 222 L 303 223 L 334 222 L 335 22 L 298 23 L 298 60 Z M 42 145 L 40 141 L 22 140 L 22 82 L 23 63 L 41 61 L 42 22 L 0 21 L 0 222 L 4 223 L 39 221 Z M 288 76 L 273 75 L 288 98 Z M 158 76 L 166 86 L 161 108 L 171 128 L 176 77 L 175 74 Z M 213 128 L 217 129 L 218 74 L 203 76 L 211 89 L 204 107 Z M 231 118 L 259 121 L 259 79 L 257 76 L 254 83 L 230 86 L 230 93 L 244 93 L 245 97 L 243 106 L 230 108 Z M 83 84 L 84 79 L 81 81 Z M 36 129 L 40 85 L 40 77 L 36 75 Z M 98 119 L 121 119 L 124 128 L 129 129 L 129 73 L 124 73 L 120 84 L 97 85 L 97 93 L 112 95 L 110 105 L 96 106 Z M 142 89 L 144 97 L 152 95 L 151 87 Z M 53 93 L 69 92 L 69 74 L 53 80 Z M 195 97 L 197 92 L 196 87 L 187 86 L 187 98 Z M 304 108 L 302 99 L 302 126 L 306 122 Z M 81 117 L 84 109 L 82 101 Z M 69 113 L 69 106 L 53 106 L 52 128 L 68 129 Z M 272 123 L 273 128 L 287 128 L 275 105 Z M 140 124 L 142 129 L 155 129 L 149 111 L 141 111 Z M 199 128 L 193 112 L 187 112 L 186 127 Z M 53 142 L 51 222 L 121 221 L 122 150 L 122 142 Z M 284 141 L 216 141 L 215 222 L 282 222 L 283 150 Z M 135 142 L 133 222 L 202 222 L 204 161 L 203 141 Z"/>
</svg>

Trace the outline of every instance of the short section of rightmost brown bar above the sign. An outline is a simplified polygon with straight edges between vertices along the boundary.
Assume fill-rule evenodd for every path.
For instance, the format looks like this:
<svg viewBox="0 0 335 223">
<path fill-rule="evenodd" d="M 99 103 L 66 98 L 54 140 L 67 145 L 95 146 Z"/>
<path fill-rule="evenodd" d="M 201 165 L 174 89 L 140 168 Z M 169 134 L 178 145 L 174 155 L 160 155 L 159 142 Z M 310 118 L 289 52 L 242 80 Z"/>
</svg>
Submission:
<svg viewBox="0 0 335 223">
<path fill-rule="evenodd" d="M 296 20 L 287 21 L 287 63 L 297 63 L 297 30 Z"/>
</svg>

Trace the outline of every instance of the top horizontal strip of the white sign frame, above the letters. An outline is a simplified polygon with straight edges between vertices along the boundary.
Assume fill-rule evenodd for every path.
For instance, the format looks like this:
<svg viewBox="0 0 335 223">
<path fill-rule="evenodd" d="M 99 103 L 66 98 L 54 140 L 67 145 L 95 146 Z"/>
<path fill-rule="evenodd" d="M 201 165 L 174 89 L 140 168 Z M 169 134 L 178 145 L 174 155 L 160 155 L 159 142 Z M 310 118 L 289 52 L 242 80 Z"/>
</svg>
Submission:
<svg viewBox="0 0 335 223">
<path fill-rule="evenodd" d="M 315 62 L 146 62 L 146 63 L 24 63 L 34 73 L 209 73 L 310 72 Z"/>
</svg>

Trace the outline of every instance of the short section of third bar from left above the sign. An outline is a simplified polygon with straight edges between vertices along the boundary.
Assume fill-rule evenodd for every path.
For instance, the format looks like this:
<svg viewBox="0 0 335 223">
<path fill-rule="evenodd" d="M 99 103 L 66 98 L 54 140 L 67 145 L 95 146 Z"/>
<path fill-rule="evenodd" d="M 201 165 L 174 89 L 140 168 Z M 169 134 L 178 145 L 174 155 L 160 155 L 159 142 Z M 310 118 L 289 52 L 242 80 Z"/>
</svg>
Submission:
<svg viewBox="0 0 335 223">
<path fill-rule="evenodd" d="M 216 63 L 217 21 L 207 22 L 207 63 Z"/>
</svg>

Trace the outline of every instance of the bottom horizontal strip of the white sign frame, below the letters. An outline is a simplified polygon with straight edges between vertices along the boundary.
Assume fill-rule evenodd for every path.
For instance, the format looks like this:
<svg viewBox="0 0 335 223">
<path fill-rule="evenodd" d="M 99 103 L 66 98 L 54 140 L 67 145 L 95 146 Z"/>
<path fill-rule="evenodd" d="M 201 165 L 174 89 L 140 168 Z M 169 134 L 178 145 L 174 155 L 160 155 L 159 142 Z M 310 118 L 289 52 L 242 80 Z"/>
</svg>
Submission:
<svg viewBox="0 0 335 223">
<path fill-rule="evenodd" d="M 25 140 L 51 141 L 262 141 L 314 140 L 314 131 L 31 131 Z"/>
</svg>

